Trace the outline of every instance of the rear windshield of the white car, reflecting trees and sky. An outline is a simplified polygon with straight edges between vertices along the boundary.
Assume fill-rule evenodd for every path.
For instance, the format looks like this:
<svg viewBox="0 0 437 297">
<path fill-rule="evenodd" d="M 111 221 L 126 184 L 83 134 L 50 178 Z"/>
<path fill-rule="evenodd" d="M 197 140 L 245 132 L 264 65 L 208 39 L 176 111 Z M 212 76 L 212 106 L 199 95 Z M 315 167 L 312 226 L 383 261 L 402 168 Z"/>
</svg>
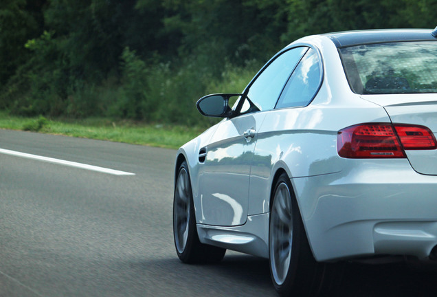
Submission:
<svg viewBox="0 0 437 297">
<path fill-rule="evenodd" d="M 437 93 L 437 41 L 357 45 L 339 52 L 357 94 Z"/>
</svg>

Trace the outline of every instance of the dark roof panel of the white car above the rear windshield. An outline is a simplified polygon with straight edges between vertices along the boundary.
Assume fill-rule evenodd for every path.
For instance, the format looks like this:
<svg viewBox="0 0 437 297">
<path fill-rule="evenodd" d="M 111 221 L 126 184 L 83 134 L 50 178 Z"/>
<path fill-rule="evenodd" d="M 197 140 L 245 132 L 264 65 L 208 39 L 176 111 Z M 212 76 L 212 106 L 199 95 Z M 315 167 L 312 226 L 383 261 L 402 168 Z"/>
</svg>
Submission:
<svg viewBox="0 0 437 297">
<path fill-rule="evenodd" d="M 322 35 L 333 41 L 336 47 L 348 47 L 396 41 L 437 41 L 431 32 L 432 29 L 385 29 L 334 32 Z"/>
</svg>

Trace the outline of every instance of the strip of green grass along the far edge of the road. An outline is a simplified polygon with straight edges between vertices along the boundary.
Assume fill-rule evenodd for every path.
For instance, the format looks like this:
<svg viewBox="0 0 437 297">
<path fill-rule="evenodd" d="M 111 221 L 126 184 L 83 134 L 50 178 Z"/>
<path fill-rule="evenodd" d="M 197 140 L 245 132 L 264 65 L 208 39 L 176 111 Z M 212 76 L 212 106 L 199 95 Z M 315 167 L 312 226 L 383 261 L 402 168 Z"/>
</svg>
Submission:
<svg viewBox="0 0 437 297">
<path fill-rule="evenodd" d="M 166 126 L 144 124 L 107 118 L 85 120 L 22 118 L 0 111 L 0 129 L 34 131 L 129 144 L 179 148 L 205 130 L 205 127 Z"/>
</svg>

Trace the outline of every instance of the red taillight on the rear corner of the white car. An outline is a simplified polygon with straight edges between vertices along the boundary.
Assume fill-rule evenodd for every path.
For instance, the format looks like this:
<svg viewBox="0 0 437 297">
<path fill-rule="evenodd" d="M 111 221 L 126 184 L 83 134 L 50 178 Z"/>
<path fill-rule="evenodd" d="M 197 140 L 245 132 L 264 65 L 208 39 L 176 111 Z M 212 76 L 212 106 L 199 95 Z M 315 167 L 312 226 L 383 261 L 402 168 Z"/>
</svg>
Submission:
<svg viewBox="0 0 437 297">
<path fill-rule="evenodd" d="M 400 158 L 405 157 L 404 149 L 436 148 L 436 138 L 425 126 L 359 124 L 342 129 L 337 135 L 338 154 L 346 158 Z"/>
</svg>

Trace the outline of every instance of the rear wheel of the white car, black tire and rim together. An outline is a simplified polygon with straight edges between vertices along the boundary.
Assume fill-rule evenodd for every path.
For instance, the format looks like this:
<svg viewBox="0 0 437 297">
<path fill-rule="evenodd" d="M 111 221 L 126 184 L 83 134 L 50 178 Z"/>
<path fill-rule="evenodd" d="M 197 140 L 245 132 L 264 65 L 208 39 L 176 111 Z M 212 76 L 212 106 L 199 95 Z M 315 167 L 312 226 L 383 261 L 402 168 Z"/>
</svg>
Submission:
<svg viewBox="0 0 437 297">
<path fill-rule="evenodd" d="M 280 296 L 317 296 L 325 265 L 313 257 L 292 189 L 287 174 L 280 175 L 273 190 L 269 224 L 271 279 Z"/>
</svg>

